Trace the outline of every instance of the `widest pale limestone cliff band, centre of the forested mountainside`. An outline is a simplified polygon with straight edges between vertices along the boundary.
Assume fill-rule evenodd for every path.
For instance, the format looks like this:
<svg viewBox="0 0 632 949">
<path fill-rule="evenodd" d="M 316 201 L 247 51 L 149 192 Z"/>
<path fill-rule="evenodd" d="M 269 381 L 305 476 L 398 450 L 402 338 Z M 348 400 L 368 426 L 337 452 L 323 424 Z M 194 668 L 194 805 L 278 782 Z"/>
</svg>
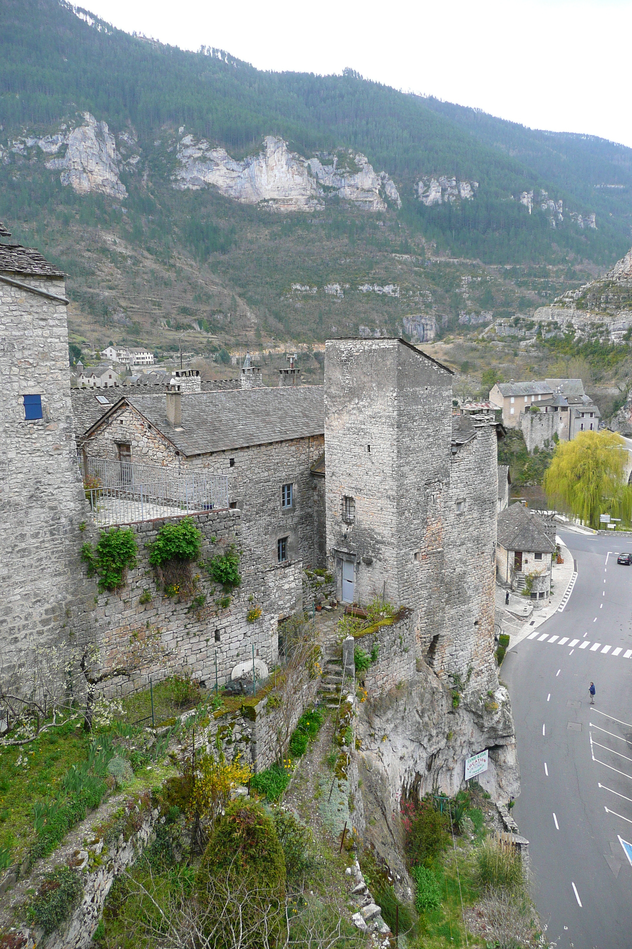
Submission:
<svg viewBox="0 0 632 949">
<path fill-rule="evenodd" d="M 386 172 L 376 173 L 369 159 L 351 150 L 303 158 L 287 142 L 267 136 L 262 151 L 243 160 L 207 140 L 184 136 L 177 145 L 173 187 L 197 190 L 208 185 L 244 204 L 266 202 L 276 211 L 314 211 L 328 195 L 384 211 L 387 201 L 401 207 L 397 188 Z"/>
</svg>

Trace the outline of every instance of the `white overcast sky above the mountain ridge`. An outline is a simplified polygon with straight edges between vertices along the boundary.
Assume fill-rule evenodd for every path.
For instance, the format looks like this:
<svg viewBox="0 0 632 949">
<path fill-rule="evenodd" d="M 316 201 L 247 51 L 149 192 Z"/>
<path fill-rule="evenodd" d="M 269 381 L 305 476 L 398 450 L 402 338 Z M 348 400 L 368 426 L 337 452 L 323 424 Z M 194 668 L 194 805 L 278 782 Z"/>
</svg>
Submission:
<svg viewBox="0 0 632 949">
<path fill-rule="evenodd" d="M 630 0 L 80 0 L 129 32 L 260 69 L 340 73 L 632 146 Z"/>
</svg>

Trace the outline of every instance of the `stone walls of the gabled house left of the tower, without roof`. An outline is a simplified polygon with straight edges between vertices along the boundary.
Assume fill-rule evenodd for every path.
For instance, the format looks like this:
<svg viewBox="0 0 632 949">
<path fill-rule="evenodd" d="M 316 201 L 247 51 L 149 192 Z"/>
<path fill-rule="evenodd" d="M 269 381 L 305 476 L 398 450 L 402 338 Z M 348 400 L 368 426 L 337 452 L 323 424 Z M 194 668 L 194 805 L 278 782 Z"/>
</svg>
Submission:
<svg viewBox="0 0 632 949">
<path fill-rule="evenodd" d="M 156 397 L 156 398 L 165 398 Z M 132 446 L 132 461 L 170 467 L 173 471 L 203 468 L 209 474 L 228 475 L 228 497 L 242 511 L 244 531 L 261 563 L 278 562 L 277 542 L 287 537 L 289 560 L 302 558 L 304 566 L 319 566 L 315 522 L 322 496 L 316 490 L 310 467 L 322 454 L 324 437 L 296 438 L 233 451 L 184 457 L 165 435 L 122 402 L 95 434 L 83 441 L 87 456 L 117 459 L 117 443 Z M 230 459 L 234 464 L 230 464 Z M 281 508 L 281 486 L 293 485 L 293 505 Z M 320 565 L 324 566 L 324 565 Z"/>
</svg>

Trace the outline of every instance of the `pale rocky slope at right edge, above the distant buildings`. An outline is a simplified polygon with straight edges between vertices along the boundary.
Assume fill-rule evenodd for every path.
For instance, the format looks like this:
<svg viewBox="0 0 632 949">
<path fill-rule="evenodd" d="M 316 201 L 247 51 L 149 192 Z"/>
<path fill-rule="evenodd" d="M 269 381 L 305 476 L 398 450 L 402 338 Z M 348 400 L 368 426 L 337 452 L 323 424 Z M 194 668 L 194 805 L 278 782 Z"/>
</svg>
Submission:
<svg viewBox="0 0 632 949">
<path fill-rule="evenodd" d="M 541 324 L 543 336 L 573 330 L 582 338 L 598 332 L 611 343 L 621 343 L 632 326 L 632 250 L 605 277 L 567 290 L 551 307 L 538 307 L 533 320 Z"/>
</svg>

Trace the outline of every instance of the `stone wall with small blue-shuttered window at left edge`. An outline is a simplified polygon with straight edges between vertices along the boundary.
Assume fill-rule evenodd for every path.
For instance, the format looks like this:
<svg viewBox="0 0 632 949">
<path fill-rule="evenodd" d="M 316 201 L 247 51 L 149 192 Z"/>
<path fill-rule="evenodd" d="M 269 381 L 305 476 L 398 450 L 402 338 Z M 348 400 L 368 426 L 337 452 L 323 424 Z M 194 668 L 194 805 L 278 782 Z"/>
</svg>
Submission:
<svg viewBox="0 0 632 949">
<path fill-rule="evenodd" d="M 63 279 L 22 282 L 64 295 Z M 65 307 L 0 283 L 0 653 L 5 672 L 92 603 L 79 563 L 90 509 L 77 467 Z M 43 419 L 25 420 L 24 395 Z"/>
</svg>

